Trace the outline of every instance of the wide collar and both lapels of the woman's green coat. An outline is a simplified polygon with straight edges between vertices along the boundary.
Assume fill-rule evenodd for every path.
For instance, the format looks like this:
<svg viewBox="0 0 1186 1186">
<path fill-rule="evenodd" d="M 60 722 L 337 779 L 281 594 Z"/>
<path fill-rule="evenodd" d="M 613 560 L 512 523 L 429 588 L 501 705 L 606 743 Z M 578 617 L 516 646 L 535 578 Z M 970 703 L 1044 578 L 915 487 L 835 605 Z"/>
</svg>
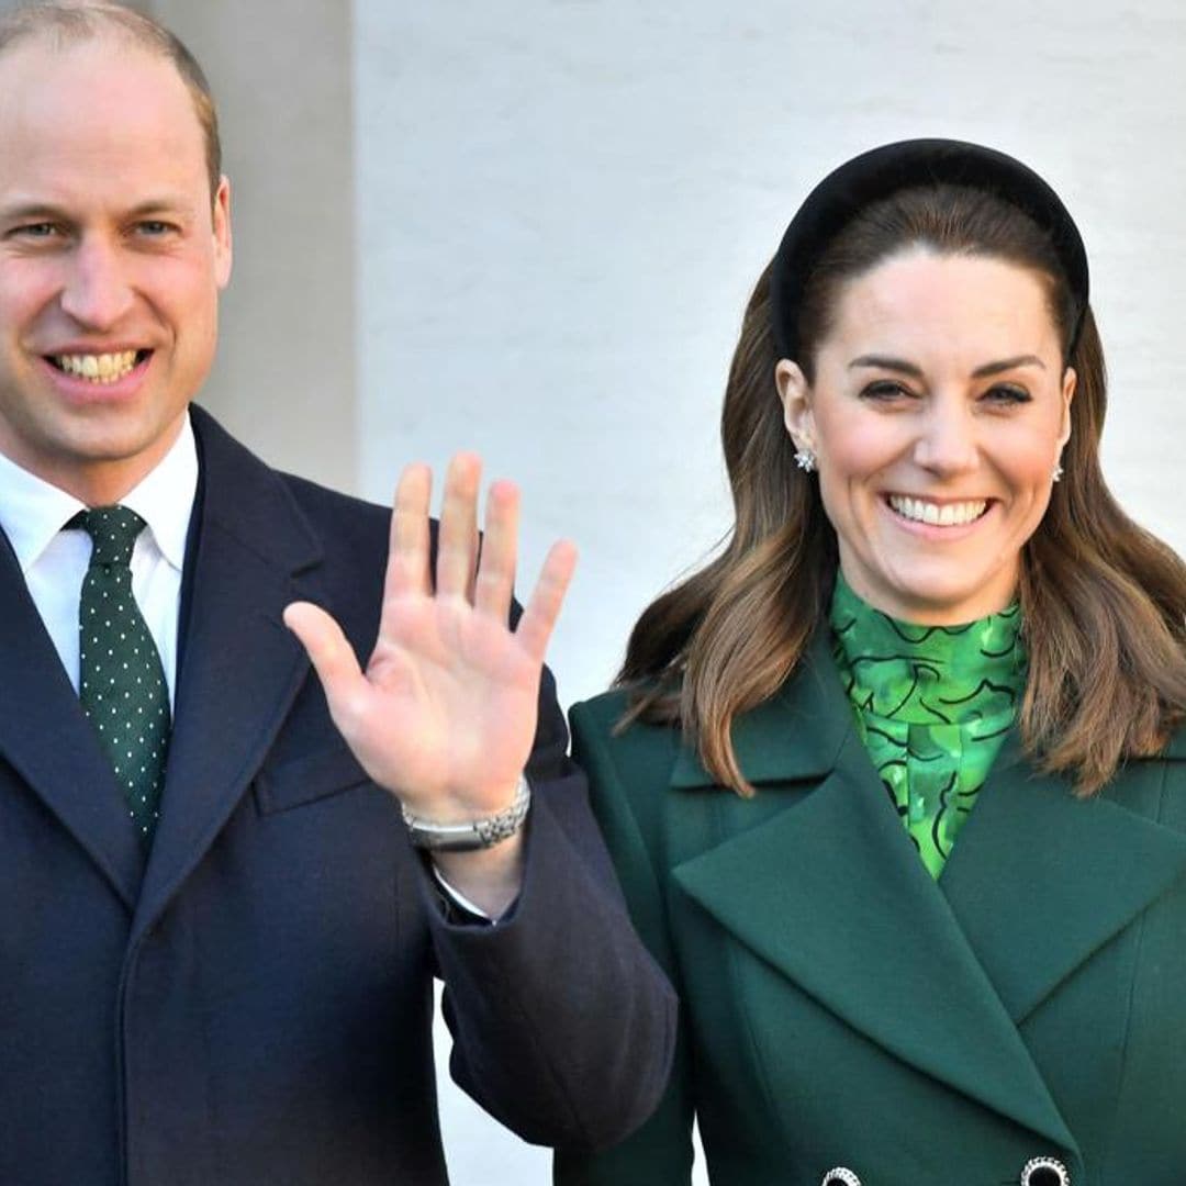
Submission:
<svg viewBox="0 0 1186 1186">
<path fill-rule="evenodd" d="M 936 884 L 856 735 L 824 632 L 738 722 L 734 748 L 759 802 L 809 785 L 752 827 L 739 823 L 747 805 L 718 792 L 732 825 L 676 867 L 683 890 L 892 1056 L 1077 1155 L 1018 1025 L 1186 873 L 1186 837 L 1115 798 L 1076 799 L 1034 776 L 1014 740 Z M 712 784 L 683 752 L 671 785 Z"/>
</svg>

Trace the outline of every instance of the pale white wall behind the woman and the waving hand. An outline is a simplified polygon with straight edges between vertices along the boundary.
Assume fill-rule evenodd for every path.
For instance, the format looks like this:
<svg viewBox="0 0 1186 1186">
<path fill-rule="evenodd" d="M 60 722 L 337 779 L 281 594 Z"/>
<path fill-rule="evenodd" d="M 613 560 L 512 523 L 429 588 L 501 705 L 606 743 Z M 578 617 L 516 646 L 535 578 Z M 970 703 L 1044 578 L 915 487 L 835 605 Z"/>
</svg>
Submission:
<svg viewBox="0 0 1186 1186">
<path fill-rule="evenodd" d="M 1186 9 L 903 0 L 355 0 L 359 486 L 476 447 L 525 493 L 525 588 L 582 550 L 551 663 L 611 678 L 725 529 L 742 302 L 806 190 L 875 144 L 1033 164 L 1093 267 L 1122 502 L 1179 550 Z M 337 211 L 338 217 L 347 212 Z M 547 1181 L 446 1090 L 459 1186 Z"/>
</svg>

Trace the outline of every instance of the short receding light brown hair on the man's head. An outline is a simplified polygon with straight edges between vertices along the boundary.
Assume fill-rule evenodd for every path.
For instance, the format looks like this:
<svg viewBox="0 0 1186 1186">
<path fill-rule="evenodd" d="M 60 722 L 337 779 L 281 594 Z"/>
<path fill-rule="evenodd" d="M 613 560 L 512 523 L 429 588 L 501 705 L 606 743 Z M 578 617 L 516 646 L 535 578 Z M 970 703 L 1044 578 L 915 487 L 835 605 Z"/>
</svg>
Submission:
<svg viewBox="0 0 1186 1186">
<path fill-rule="evenodd" d="M 40 38 L 55 49 L 66 49 L 103 36 L 122 38 L 173 63 L 193 101 L 206 149 L 210 198 L 218 192 L 222 177 L 222 144 L 218 113 L 210 83 L 197 58 L 181 39 L 144 13 L 108 0 L 57 0 L 21 5 L 0 14 L 0 55 L 21 42 Z"/>
</svg>

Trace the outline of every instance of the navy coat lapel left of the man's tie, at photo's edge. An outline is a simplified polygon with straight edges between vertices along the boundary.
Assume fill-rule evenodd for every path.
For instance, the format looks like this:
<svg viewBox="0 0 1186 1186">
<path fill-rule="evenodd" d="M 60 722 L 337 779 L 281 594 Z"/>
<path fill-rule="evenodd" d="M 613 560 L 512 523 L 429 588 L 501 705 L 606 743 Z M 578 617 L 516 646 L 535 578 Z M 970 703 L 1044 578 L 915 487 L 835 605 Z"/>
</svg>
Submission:
<svg viewBox="0 0 1186 1186">
<path fill-rule="evenodd" d="M 110 763 L 0 533 L 0 754 L 90 854 L 130 913 L 144 859 Z"/>
</svg>

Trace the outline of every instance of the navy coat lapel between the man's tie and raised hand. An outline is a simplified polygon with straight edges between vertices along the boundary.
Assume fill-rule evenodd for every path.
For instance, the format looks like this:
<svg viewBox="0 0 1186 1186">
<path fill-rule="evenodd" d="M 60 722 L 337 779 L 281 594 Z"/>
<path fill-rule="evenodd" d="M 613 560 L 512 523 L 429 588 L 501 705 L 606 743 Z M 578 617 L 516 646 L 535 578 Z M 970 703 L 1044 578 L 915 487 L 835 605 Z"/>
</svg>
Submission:
<svg viewBox="0 0 1186 1186">
<path fill-rule="evenodd" d="M 260 767 L 308 661 L 281 620 L 320 547 L 287 486 L 195 409 L 203 498 L 168 771 L 134 929 L 151 925 Z"/>
</svg>

